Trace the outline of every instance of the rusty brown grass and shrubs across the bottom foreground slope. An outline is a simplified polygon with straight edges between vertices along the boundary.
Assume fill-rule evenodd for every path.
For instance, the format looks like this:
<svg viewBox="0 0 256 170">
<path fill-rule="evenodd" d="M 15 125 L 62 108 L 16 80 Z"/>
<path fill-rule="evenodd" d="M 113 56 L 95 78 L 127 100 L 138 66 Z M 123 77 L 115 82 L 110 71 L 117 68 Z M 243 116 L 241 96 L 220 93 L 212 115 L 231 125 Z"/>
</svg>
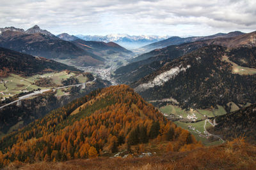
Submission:
<svg viewBox="0 0 256 170">
<path fill-rule="evenodd" d="M 67 162 L 13 162 L 6 169 L 255 169 L 256 146 L 234 139 L 220 146 L 143 158 L 76 159 Z"/>
</svg>

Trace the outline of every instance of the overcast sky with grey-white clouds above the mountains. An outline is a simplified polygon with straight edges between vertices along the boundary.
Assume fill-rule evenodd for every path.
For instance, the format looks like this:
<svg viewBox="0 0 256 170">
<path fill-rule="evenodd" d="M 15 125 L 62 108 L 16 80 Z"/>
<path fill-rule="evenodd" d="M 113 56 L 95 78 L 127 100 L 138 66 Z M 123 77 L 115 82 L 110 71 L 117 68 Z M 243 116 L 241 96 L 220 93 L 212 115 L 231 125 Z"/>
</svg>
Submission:
<svg viewBox="0 0 256 170">
<path fill-rule="evenodd" d="M 0 0 L 0 27 L 53 34 L 204 36 L 256 30 L 255 0 Z"/>
</svg>

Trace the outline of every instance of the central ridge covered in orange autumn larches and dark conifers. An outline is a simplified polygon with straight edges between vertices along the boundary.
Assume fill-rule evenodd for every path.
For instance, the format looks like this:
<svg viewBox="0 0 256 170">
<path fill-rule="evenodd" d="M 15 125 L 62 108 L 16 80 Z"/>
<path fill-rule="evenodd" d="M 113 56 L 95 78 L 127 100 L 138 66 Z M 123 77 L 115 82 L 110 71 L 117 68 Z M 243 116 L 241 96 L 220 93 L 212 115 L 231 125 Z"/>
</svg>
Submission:
<svg viewBox="0 0 256 170">
<path fill-rule="evenodd" d="M 170 143 L 175 151 L 202 146 L 134 90 L 118 85 L 91 92 L 1 139 L 0 164 L 90 158 L 118 150 L 132 153 L 138 144 L 159 141 Z"/>
</svg>

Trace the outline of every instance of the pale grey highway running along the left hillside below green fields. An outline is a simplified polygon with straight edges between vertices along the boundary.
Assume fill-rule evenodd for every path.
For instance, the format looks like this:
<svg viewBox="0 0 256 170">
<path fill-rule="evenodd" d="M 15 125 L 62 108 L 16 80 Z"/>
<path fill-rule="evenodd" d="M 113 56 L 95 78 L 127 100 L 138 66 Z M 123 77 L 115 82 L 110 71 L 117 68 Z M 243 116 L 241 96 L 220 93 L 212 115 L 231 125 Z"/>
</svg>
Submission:
<svg viewBox="0 0 256 170">
<path fill-rule="evenodd" d="M 44 92 L 47 92 L 49 90 L 58 90 L 58 89 L 65 89 L 65 88 L 68 88 L 68 87 L 79 87 L 80 85 L 86 85 L 87 83 L 91 83 L 93 81 L 97 80 L 97 78 L 94 78 L 94 80 L 92 81 L 88 81 L 88 82 L 85 82 L 85 83 L 79 83 L 79 84 L 76 84 L 76 85 L 67 85 L 67 86 L 63 86 L 63 87 L 57 87 L 57 88 L 54 88 L 54 89 L 44 89 L 44 90 L 38 90 L 38 91 L 35 91 L 31 94 L 26 94 L 24 96 L 21 96 L 19 97 L 19 99 L 17 99 L 16 101 L 12 101 L 11 103 L 8 103 L 8 104 L 5 104 L 4 106 L 1 106 L 0 107 L 0 110 L 3 109 L 4 107 L 6 106 L 9 106 L 11 104 L 14 104 L 14 103 L 17 103 L 18 101 L 21 101 L 21 100 L 24 100 L 24 99 L 27 99 L 28 97 L 32 97 L 32 96 L 37 96 L 38 94 L 44 94 Z"/>
</svg>

